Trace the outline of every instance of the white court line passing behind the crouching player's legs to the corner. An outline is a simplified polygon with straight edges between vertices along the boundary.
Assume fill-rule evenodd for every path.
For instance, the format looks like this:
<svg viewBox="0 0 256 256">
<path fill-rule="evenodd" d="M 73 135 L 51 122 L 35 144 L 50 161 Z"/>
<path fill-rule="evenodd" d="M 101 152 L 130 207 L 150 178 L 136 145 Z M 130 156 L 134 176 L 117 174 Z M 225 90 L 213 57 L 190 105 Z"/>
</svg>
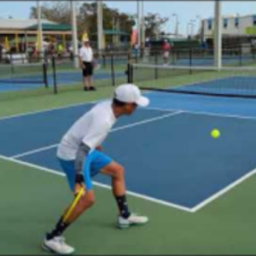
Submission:
<svg viewBox="0 0 256 256">
<path fill-rule="evenodd" d="M 10 162 L 14 162 L 16 164 L 20 164 L 22 166 L 29 166 L 29 167 L 32 167 L 32 168 L 35 168 L 35 169 L 38 169 L 38 170 L 41 170 L 41 171 L 44 171 L 44 172 L 49 172 L 49 173 L 52 173 L 52 174 L 55 174 L 55 175 L 58 175 L 58 176 L 61 176 L 61 177 L 65 177 L 66 176 L 63 172 L 57 172 L 55 170 L 52 170 L 52 169 L 49 169 L 49 168 L 46 168 L 46 167 L 30 164 L 30 163 L 27 163 L 27 162 L 22 161 L 22 160 L 16 160 L 16 159 L 13 159 L 13 158 L 10 158 L 10 157 L 3 156 L 1 154 L 0 154 L 0 159 L 8 160 Z M 93 182 L 93 183 L 96 186 L 104 188 L 104 189 L 112 189 L 111 186 L 105 185 L 103 183 L 96 183 L 96 182 Z M 158 200 L 158 199 L 155 199 L 154 197 L 150 197 L 150 196 L 147 196 L 147 195 L 137 194 L 137 193 L 129 191 L 129 190 L 126 191 L 126 194 L 127 195 L 135 196 L 137 198 L 141 198 L 141 199 L 143 199 L 145 201 L 152 201 L 154 203 L 158 203 L 158 204 L 164 205 L 166 207 L 173 207 L 173 208 L 176 208 L 178 210 L 185 211 L 185 212 L 192 212 L 190 208 L 182 207 L 182 206 L 170 203 L 168 201 Z"/>
</svg>

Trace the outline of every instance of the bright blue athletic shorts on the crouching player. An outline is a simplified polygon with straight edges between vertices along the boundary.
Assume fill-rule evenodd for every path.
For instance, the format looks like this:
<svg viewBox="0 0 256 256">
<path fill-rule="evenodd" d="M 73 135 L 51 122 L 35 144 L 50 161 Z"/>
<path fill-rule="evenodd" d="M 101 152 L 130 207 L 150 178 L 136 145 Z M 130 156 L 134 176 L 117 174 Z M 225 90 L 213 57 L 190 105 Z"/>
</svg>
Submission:
<svg viewBox="0 0 256 256">
<path fill-rule="evenodd" d="M 75 161 L 74 160 L 62 160 L 58 158 L 61 163 L 63 171 L 67 175 L 67 181 L 70 189 L 74 190 L 75 186 Z M 94 177 L 105 166 L 108 166 L 113 161 L 108 155 L 103 154 L 101 151 L 94 150 L 86 158 L 84 162 L 84 183 L 87 190 L 92 189 L 93 185 L 91 177 Z"/>
</svg>

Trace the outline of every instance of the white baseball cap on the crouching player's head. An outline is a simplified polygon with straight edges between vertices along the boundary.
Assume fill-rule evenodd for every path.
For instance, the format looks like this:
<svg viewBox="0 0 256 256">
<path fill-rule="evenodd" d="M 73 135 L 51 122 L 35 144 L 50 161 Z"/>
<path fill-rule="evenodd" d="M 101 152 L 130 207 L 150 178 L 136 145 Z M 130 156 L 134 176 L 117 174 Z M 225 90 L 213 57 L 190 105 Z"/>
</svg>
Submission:
<svg viewBox="0 0 256 256">
<path fill-rule="evenodd" d="M 114 90 L 114 98 L 119 102 L 136 103 L 138 106 L 147 107 L 149 99 L 142 96 L 141 91 L 135 84 L 121 84 Z"/>
</svg>

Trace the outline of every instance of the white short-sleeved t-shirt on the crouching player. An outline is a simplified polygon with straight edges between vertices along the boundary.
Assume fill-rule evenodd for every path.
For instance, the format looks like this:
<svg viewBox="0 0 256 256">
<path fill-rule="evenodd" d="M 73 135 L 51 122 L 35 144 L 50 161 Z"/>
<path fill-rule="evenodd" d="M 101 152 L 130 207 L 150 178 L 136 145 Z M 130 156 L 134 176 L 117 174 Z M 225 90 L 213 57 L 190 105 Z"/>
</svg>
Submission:
<svg viewBox="0 0 256 256">
<path fill-rule="evenodd" d="M 84 113 L 62 137 L 57 156 L 62 160 L 74 160 L 82 142 L 91 150 L 95 149 L 108 136 L 115 122 L 112 102 L 98 103 L 89 112 Z"/>
</svg>

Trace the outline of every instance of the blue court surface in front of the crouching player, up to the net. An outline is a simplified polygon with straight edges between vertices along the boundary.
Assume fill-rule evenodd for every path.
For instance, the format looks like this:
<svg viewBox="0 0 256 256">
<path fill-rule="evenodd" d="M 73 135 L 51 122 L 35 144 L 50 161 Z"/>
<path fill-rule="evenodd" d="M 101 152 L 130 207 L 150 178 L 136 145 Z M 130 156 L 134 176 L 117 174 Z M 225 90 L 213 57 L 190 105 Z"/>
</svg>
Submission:
<svg viewBox="0 0 256 256">
<path fill-rule="evenodd" d="M 195 212 L 254 173 L 255 100 L 160 92 L 148 97 L 150 106 L 120 118 L 103 144 L 125 166 L 134 195 Z M 57 144 L 93 105 L 0 119 L 0 154 L 61 172 Z M 218 139 L 210 136 L 214 128 L 221 131 Z M 94 180 L 110 184 L 102 175 Z"/>
</svg>

